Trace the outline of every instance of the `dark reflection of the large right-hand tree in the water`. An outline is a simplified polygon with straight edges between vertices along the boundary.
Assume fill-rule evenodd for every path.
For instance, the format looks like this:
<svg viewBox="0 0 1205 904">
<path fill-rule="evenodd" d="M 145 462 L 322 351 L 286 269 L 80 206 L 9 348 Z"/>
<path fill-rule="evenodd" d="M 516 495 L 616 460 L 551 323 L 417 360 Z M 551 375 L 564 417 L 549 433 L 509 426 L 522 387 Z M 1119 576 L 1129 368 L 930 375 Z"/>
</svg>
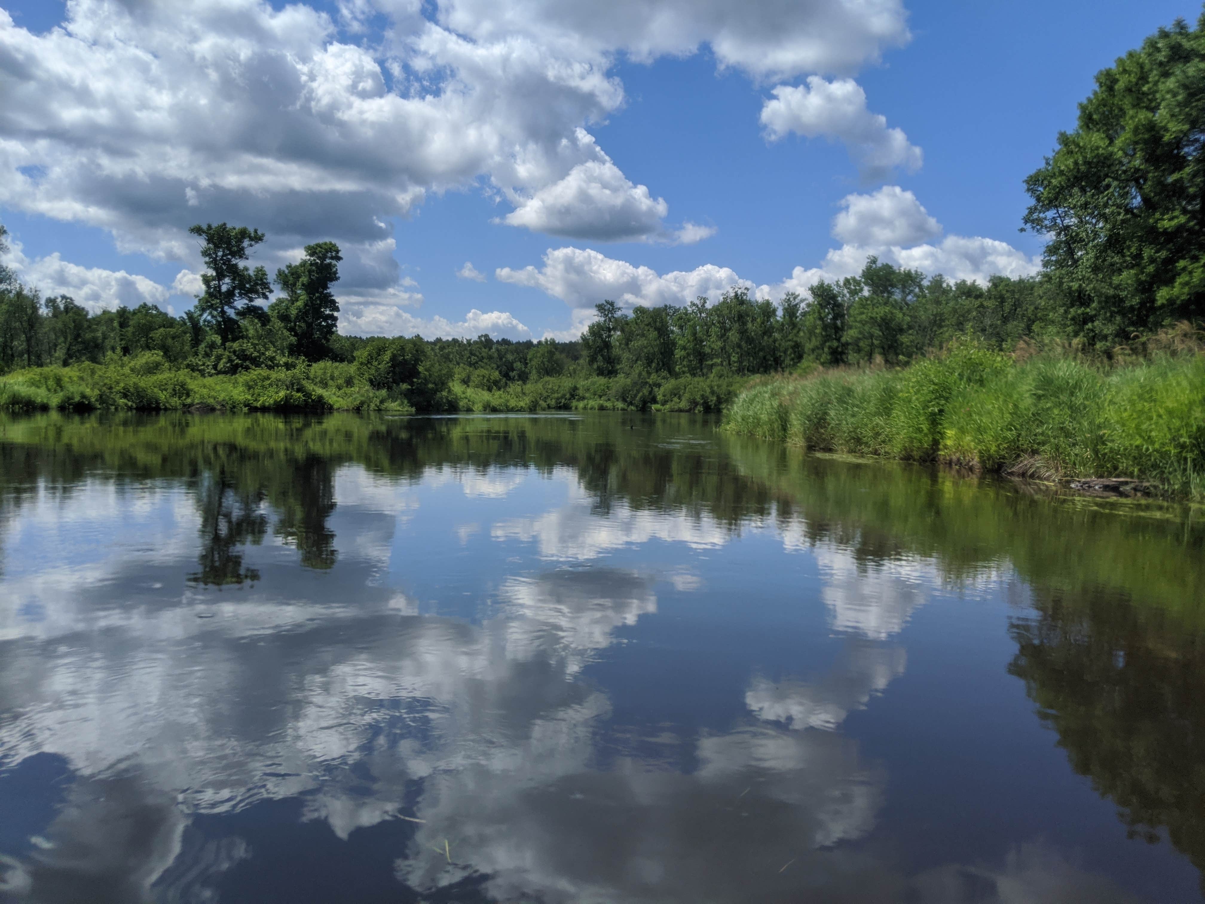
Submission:
<svg viewBox="0 0 1205 904">
<path fill-rule="evenodd" d="M 1038 589 L 1034 606 L 1009 671 L 1130 834 L 1165 830 L 1205 871 L 1205 638 L 1103 588 Z"/>
</svg>

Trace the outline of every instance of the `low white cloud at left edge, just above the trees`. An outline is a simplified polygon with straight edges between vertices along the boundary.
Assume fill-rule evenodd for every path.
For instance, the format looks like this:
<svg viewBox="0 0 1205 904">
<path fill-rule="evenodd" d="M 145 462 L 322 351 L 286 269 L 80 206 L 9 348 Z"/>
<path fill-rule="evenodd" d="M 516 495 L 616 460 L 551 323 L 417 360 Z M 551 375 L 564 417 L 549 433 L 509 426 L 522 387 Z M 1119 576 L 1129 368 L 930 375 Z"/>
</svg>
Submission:
<svg viewBox="0 0 1205 904">
<path fill-rule="evenodd" d="M 25 257 L 20 242 L 16 240 L 10 240 L 4 264 L 11 268 L 22 282 L 41 292 L 45 298 L 70 295 L 93 313 L 111 311 L 122 305 L 163 306 L 175 292 L 146 276 L 128 274 L 124 270 L 72 264 L 64 260 L 58 252 L 30 259 Z"/>
</svg>

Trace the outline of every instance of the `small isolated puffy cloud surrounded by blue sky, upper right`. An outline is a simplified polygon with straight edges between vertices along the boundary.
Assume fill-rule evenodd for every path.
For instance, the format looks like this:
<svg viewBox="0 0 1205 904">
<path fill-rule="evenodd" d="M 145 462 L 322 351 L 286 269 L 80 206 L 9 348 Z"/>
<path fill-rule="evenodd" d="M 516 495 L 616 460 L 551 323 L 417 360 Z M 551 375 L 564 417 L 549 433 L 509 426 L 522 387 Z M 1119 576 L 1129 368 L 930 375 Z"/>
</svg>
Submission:
<svg viewBox="0 0 1205 904">
<path fill-rule="evenodd" d="M 780 84 L 771 93 L 774 99 L 762 106 L 762 124 L 771 141 L 792 131 L 809 139 L 836 139 L 868 182 L 886 178 L 895 168 L 921 169 L 921 148 L 901 129 L 887 128 L 887 117 L 866 108 L 866 93 L 852 78 L 829 82 L 812 76 L 806 86 Z"/>
</svg>

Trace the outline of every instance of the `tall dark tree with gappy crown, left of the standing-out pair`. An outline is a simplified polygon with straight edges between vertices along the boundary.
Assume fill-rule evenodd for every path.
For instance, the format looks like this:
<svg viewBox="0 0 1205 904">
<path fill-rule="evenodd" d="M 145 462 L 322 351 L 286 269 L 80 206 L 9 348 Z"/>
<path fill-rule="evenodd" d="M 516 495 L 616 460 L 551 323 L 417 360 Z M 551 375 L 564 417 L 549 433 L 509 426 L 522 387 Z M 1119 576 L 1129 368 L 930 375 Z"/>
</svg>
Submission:
<svg viewBox="0 0 1205 904">
<path fill-rule="evenodd" d="M 196 224 L 188 231 L 205 240 L 201 259 L 208 268 L 201 275 L 205 292 L 196 297 L 196 309 L 225 345 L 239 337 L 242 321 L 266 317 L 255 303 L 271 294 L 268 271 L 261 266 L 252 270 L 242 263 L 248 259 L 249 250 L 264 241 L 264 234 L 225 223 Z"/>
</svg>

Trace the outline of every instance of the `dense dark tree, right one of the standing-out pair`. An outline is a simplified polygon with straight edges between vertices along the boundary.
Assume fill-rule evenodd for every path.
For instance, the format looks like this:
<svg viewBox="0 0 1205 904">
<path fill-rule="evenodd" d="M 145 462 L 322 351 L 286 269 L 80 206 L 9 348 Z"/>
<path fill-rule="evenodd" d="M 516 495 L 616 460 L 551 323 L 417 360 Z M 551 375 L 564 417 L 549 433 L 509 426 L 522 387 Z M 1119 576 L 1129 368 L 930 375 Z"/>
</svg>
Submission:
<svg viewBox="0 0 1205 904">
<path fill-rule="evenodd" d="M 330 357 L 330 341 L 339 325 L 339 301 L 330 287 L 339 281 L 343 259 L 335 242 L 305 246 L 300 263 L 276 271 L 284 297 L 269 309 L 293 336 L 293 351 L 310 362 Z"/>
</svg>

